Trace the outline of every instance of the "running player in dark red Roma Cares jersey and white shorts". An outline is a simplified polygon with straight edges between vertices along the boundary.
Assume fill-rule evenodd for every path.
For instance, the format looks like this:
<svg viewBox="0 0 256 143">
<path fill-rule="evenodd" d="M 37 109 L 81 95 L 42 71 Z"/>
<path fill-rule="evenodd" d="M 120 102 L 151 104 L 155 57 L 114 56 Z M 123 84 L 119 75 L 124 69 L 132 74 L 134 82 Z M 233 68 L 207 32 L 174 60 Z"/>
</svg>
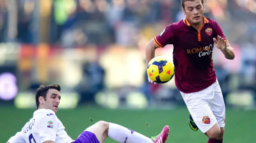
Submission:
<svg viewBox="0 0 256 143">
<path fill-rule="evenodd" d="M 213 68 L 212 52 L 215 43 L 226 59 L 233 60 L 234 49 L 218 22 L 203 16 L 203 0 L 182 0 L 182 7 L 186 18 L 168 25 L 148 42 L 146 64 L 155 57 L 157 48 L 173 44 L 175 84 L 191 119 L 209 137 L 208 143 L 222 143 L 225 104 Z M 149 79 L 149 82 L 153 81 Z"/>
</svg>

